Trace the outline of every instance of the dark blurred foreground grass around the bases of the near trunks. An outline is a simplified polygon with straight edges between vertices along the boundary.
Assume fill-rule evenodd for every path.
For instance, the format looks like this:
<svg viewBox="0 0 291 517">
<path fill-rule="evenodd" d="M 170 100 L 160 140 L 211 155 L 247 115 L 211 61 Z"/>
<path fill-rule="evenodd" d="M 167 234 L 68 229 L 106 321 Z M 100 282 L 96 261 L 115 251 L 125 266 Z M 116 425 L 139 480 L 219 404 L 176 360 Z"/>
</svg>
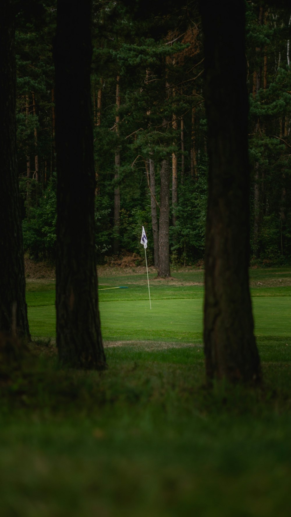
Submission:
<svg viewBox="0 0 291 517">
<path fill-rule="evenodd" d="M 201 346 L 108 346 L 98 373 L 34 345 L 2 371 L 1 515 L 287 517 L 291 353 L 259 346 L 261 389 L 209 391 Z"/>
</svg>

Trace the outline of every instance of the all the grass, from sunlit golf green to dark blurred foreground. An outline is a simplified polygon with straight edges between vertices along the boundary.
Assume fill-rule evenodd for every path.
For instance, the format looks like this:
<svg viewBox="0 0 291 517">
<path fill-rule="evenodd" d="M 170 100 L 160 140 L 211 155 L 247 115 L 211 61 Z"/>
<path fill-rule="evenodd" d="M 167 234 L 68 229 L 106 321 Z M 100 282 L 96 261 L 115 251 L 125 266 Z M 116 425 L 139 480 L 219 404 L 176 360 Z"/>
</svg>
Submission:
<svg viewBox="0 0 291 517">
<path fill-rule="evenodd" d="M 106 372 L 32 345 L 0 362 L 1 517 L 288 517 L 291 271 L 251 272 L 264 385 L 204 385 L 202 272 L 100 277 Z M 280 284 L 280 280 L 284 280 Z M 259 283 L 258 283 L 259 282 Z M 55 337 L 54 285 L 27 283 L 30 330 Z M 1 359 L 1 358 L 0 358 Z"/>
</svg>

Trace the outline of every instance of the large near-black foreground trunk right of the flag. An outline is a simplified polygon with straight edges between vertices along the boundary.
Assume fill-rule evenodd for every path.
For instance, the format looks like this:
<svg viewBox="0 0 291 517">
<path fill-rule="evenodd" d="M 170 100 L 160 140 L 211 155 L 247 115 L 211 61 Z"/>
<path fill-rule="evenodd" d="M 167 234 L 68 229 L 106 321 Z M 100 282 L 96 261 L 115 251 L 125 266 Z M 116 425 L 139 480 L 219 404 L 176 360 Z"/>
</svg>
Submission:
<svg viewBox="0 0 291 517">
<path fill-rule="evenodd" d="M 257 382 L 249 291 L 248 98 L 244 2 L 201 1 L 209 186 L 204 351 L 208 379 Z"/>
</svg>

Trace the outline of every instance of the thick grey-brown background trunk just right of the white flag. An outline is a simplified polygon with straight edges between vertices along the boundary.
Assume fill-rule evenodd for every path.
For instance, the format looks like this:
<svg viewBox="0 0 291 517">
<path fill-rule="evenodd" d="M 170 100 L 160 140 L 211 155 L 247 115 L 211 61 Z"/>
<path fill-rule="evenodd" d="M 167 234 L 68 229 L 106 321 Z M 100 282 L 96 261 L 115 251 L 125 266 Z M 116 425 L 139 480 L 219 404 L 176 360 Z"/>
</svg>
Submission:
<svg viewBox="0 0 291 517">
<path fill-rule="evenodd" d="M 158 277 L 170 277 L 169 217 L 170 217 L 170 159 L 161 163 L 160 219 L 159 219 L 159 267 Z"/>
</svg>

